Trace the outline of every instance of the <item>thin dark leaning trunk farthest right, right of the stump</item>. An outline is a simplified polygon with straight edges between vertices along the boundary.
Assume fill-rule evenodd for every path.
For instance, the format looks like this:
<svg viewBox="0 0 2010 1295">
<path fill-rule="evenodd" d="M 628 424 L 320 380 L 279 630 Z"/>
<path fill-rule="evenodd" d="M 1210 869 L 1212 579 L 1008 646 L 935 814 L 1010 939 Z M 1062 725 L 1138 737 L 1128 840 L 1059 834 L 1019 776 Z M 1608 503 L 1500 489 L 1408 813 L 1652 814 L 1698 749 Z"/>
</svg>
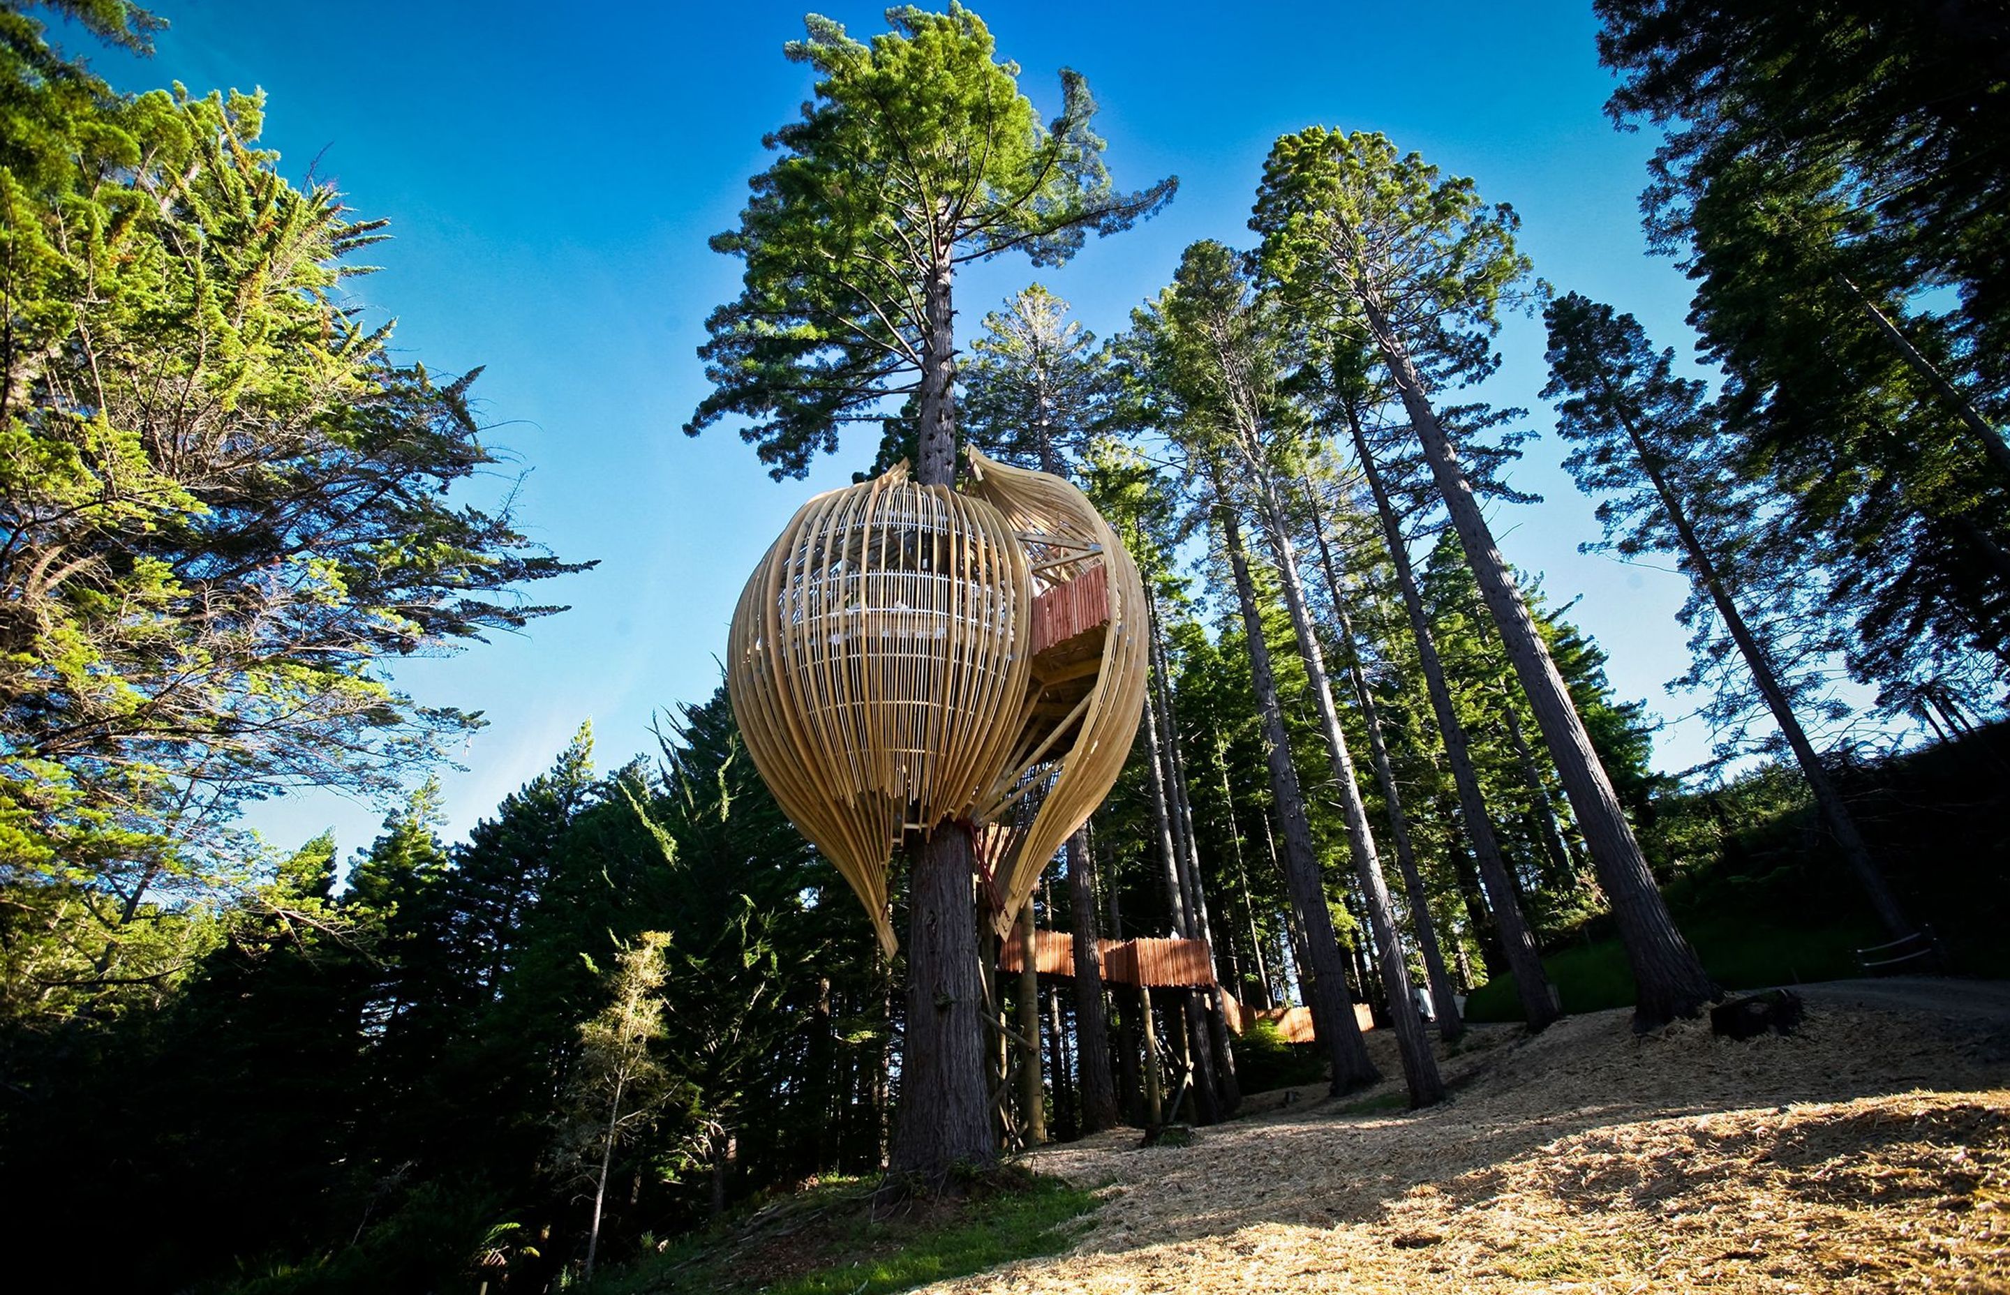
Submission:
<svg viewBox="0 0 2010 1295">
<path fill-rule="evenodd" d="M 1851 290 L 1855 290 L 1853 284 Z M 1865 308 L 1869 308 L 1871 314 L 1875 314 L 1879 322 L 1883 322 L 1885 328 L 1897 336 L 1897 330 L 1891 328 L 1889 320 L 1885 320 L 1867 298 L 1861 300 Z M 1901 336 L 1897 336 L 1897 342 L 1909 348 Z M 1612 392 L 1608 390 L 1608 394 Z M 1916 927 L 1905 915 L 1903 905 L 1899 905 L 1897 895 L 1891 893 L 1883 869 L 1877 867 L 1877 859 L 1871 855 L 1869 843 L 1863 841 L 1863 832 L 1857 830 L 1857 820 L 1851 816 L 1849 804 L 1843 800 L 1835 780 L 1829 778 L 1829 770 L 1821 764 L 1821 754 L 1815 750 L 1815 744 L 1809 742 L 1799 716 L 1793 714 L 1793 702 L 1787 698 L 1787 690 L 1781 686 L 1779 674 L 1773 670 L 1771 656 L 1765 645 L 1759 643 L 1751 625 L 1745 623 L 1745 615 L 1731 597 L 1731 589 L 1725 585 L 1723 573 L 1711 559 L 1708 549 L 1702 547 L 1702 537 L 1696 535 L 1694 525 L 1690 525 L 1688 509 L 1682 507 L 1674 487 L 1668 483 L 1666 467 L 1660 456 L 1648 448 L 1646 438 L 1630 418 L 1622 414 L 1620 422 L 1626 428 L 1626 438 L 1632 442 L 1634 456 L 1640 458 L 1640 467 L 1646 471 L 1648 481 L 1654 483 L 1660 507 L 1668 513 L 1668 521 L 1674 523 L 1674 533 L 1682 541 L 1682 551 L 1688 557 L 1690 575 L 1711 595 L 1711 605 L 1715 605 L 1717 615 L 1723 617 L 1725 631 L 1731 633 L 1731 641 L 1737 643 L 1739 656 L 1745 658 L 1745 668 L 1751 670 L 1753 684 L 1759 686 L 1759 696 L 1765 698 L 1765 706 L 1773 714 L 1773 722 L 1779 724 L 1779 732 L 1787 738 L 1787 746 L 1793 748 L 1793 758 L 1801 766 L 1801 776 L 1807 778 L 1809 790 L 1815 792 L 1815 804 L 1821 806 L 1821 816 L 1829 824 L 1829 835 L 1835 837 L 1835 845 L 1843 851 L 1849 871 L 1857 875 L 1857 885 L 1863 887 L 1863 895 L 1871 901 L 1871 911 L 1877 913 L 1877 921 L 1883 925 L 1885 933 L 1891 935 L 1891 939 L 1914 935 Z M 2002 440 L 1998 438 L 1994 444 L 2000 446 Z M 2004 465 L 2004 473 L 2010 475 L 2010 462 Z"/>
</svg>

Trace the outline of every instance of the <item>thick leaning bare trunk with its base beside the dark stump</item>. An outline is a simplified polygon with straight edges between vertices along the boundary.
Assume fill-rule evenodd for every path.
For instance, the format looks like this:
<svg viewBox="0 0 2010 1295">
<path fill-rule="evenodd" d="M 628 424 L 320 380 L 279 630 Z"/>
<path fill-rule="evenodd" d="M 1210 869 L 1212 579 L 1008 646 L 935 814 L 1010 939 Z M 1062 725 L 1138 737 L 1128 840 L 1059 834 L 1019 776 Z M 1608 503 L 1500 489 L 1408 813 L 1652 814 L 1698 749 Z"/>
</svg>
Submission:
<svg viewBox="0 0 2010 1295">
<path fill-rule="evenodd" d="M 1654 1030 L 1680 1015 L 1694 1015 L 1719 995 L 1717 985 L 1702 969 L 1696 951 L 1688 947 L 1682 933 L 1668 915 L 1668 905 L 1654 887 L 1654 875 L 1646 867 L 1640 843 L 1634 841 L 1632 824 L 1612 792 L 1592 738 L 1584 730 L 1584 720 L 1564 688 L 1564 678 L 1550 660 L 1550 650 L 1536 633 L 1536 621 L 1522 601 L 1522 591 L 1507 571 L 1493 531 L 1479 511 L 1473 485 L 1465 479 L 1459 454 L 1451 436 L 1437 422 L 1431 402 L 1423 394 L 1423 378 L 1409 360 L 1401 338 L 1373 300 L 1365 302 L 1369 330 L 1381 350 L 1403 408 L 1409 412 L 1411 428 L 1423 444 L 1423 456 L 1431 465 L 1437 493 L 1445 501 L 1445 513 L 1465 549 L 1465 561 L 1479 581 L 1479 595 L 1493 613 L 1507 660 L 1514 662 L 1522 690 L 1536 712 L 1536 724 L 1550 744 L 1550 756 L 1564 778 L 1564 794 L 1578 818 L 1578 830 L 1592 851 L 1592 867 L 1612 905 L 1612 917 L 1620 929 L 1620 943 L 1626 945 L 1626 961 L 1638 985 L 1634 1003 L 1634 1030 Z M 1495 905 L 1497 913 L 1497 905 Z M 1510 953 L 1512 957 L 1512 953 Z"/>
</svg>

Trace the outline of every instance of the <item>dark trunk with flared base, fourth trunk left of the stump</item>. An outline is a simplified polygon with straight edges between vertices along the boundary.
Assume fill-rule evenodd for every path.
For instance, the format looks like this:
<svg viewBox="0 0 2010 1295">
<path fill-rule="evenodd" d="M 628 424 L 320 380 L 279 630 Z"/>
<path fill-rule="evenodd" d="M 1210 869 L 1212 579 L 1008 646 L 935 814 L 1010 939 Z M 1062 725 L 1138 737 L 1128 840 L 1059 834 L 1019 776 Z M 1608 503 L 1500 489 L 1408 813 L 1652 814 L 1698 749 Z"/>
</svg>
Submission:
<svg viewBox="0 0 2010 1295">
<path fill-rule="evenodd" d="M 1347 971 L 1341 961 L 1341 943 L 1333 935 L 1333 913 L 1327 909 L 1327 885 L 1319 873 L 1319 855 L 1313 851 L 1313 832 L 1304 822 L 1304 798 L 1298 792 L 1298 770 L 1290 764 L 1290 742 L 1284 734 L 1284 710 L 1276 700 L 1276 680 L 1270 672 L 1270 645 L 1262 637 L 1262 611 L 1256 607 L 1256 587 L 1250 581 L 1248 555 L 1242 551 L 1242 525 L 1236 521 L 1232 503 L 1214 483 L 1222 523 L 1222 537 L 1228 547 L 1228 565 L 1234 573 L 1236 601 L 1242 607 L 1242 627 L 1248 635 L 1250 682 L 1256 692 L 1256 710 L 1262 718 L 1264 756 L 1270 764 L 1270 792 L 1276 800 L 1278 826 L 1284 830 L 1284 881 L 1290 885 L 1292 907 L 1304 927 L 1306 963 L 1298 965 L 1298 983 L 1304 989 L 1306 1005 L 1313 1009 L 1313 1034 L 1327 1046 L 1333 1062 L 1333 1094 L 1373 1084 L 1381 1078 L 1375 1062 L 1369 1060 L 1367 1044 L 1361 1042 L 1361 1024 L 1355 1022 L 1355 1007 L 1347 1001 Z"/>
</svg>

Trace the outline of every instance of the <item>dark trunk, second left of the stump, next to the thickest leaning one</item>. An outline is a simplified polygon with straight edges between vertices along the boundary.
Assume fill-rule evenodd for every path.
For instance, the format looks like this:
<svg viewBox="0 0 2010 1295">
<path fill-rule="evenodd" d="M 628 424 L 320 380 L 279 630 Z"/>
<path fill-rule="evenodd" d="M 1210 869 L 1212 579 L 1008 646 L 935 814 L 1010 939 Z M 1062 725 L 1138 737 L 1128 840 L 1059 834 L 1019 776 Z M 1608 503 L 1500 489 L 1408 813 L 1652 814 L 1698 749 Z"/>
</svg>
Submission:
<svg viewBox="0 0 2010 1295">
<path fill-rule="evenodd" d="M 1409 613 L 1411 635 L 1417 639 L 1417 664 L 1423 670 L 1425 692 L 1431 694 L 1437 732 L 1445 742 L 1445 762 L 1451 766 L 1451 782 L 1459 790 L 1459 816 L 1465 822 L 1465 839 L 1471 841 L 1473 857 L 1479 863 L 1479 881 L 1491 905 L 1493 933 L 1507 969 L 1516 977 L 1522 1015 L 1528 1017 L 1530 1032 L 1540 1032 L 1558 1017 L 1556 1001 L 1550 997 L 1550 977 L 1542 969 L 1542 953 L 1536 949 L 1536 937 L 1522 915 L 1514 877 L 1507 873 L 1499 839 L 1493 835 L 1493 820 L 1487 816 L 1487 802 L 1479 790 L 1479 772 L 1473 768 L 1465 726 L 1451 704 L 1445 666 L 1437 658 L 1437 635 L 1431 633 L 1431 617 L 1425 613 L 1423 595 L 1417 591 L 1417 571 L 1409 563 L 1403 523 L 1389 501 L 1381 471 L 1375 467 L 1375 454 L 1369 450 L 1367 432 L 1361 430 L 1361 416 L 1353 406 L 1347 408 L 1347 426 L 1353 432 L 1355 456 L 1361 458 L 1361 475 L 1375 497 L 1375 515 L 1381 519 L 1383 545 L 1389 549 L 1389 563 L 1395 567 L 1397 587 L 1403 593 L 1403 609 Z"/>
</svg>

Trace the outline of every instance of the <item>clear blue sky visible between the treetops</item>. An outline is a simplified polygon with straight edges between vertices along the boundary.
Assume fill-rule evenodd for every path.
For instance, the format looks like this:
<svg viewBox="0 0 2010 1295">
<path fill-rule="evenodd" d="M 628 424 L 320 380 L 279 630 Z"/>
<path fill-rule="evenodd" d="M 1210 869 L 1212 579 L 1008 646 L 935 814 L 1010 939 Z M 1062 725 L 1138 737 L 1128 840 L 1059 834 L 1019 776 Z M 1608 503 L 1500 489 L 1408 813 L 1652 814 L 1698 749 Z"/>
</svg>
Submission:
<svg viewBox="0 0 2010 1295">
<path fill-rule="evenodd" d="M 1646 135 L 1602 115 L 1588 4 L 979 4 L 999 52 L 1043 115 L 1073 66 L 1101 103 L 1120 185 L 1180 177 L 1156 221 L 1089 243 L 1039 282 L 1101 336 L 1158 292 L 1200 237 L 1248 245 L 1248 207 L 1270 143 L 1329 125 L 1383 131 L 1524 219 L 1524 249 L 1558 290 L 1640 316 L 1662 346 L 1688 346 L 1688 286 L 1650 257 L 1636 197 Z M 738 294 L 738 261 L 706 239 L 736 221 L 762 135 L 792 119 L 810 74 L 782 56 L 804 6 L 523 2 L 344 6 L 159 0 L 171 28 L 149 62 L 96 54 L 123 88 L 267 97 L 265 143 L 299 179 L 334 177 L 360 215 L 390 217 L 382 271 L 356 296 L 398 318 L 396 346 L 438 372 L 484 364 L 490 438 L 529 479 L 529 533 L 597 571 L 535 589 L 573 609 L 448 660 L 406 662 L 400 686 L 428 704 L 482 710 L 488 726 L 448 772 L 454 832 L 545 768 L 591 718 L 599 760 L 651 746 L 651 714 L 701 700 L 746 573 L 788 515 L 870 456 L 866 434 L 802 483 L 774 485 L 730 430 L 681 434 L 706 394 L 695 348 L 714 306 Z M 884 30 L 878 6 L 822 12 L 854 36 Z M 965 336 L 1035 278 L 999 259 L 959 284 Z M 1542 328 L 1512 320 L 1495 404 L 1548 430 Z M 1495 517 L 1507 557 L 1544 573 L 1556 601 L 1612 654 L 1612 680 L 1670 720 L 1656 762 L 1684 768 L 1706 734 L 1662 682 L 1686 668 L 1672 611 L 1680 577 L 1584 557 L 1592 501 L 1560 471 L 1554 436 L 1530 446 L 1516 485 L 1546 497 Z M 380 806 L 306 794 L 259 806 L 277 845 L 334 826 L 344 853 L 376 835 Z"/>
</svg>

